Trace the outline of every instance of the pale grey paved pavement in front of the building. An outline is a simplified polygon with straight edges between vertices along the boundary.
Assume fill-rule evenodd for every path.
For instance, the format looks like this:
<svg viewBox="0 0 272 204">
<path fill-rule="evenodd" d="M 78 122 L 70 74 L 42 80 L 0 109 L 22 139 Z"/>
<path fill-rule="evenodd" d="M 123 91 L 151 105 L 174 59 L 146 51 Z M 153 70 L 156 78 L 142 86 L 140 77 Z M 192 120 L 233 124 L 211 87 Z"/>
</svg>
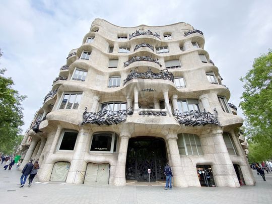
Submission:
<svg viewBox="0 0 272 204">
<path fill-rule="evenodd" d="M 4 170 L 0 165 L 0 203 L 271 203 L 272 174 L 266 181 L 253 171 L 256 186 L 188 187 L 164 190 L 163 186 L 75 185 L 61 182 L 37 182 L 20 186 L 21 172 Z M 15 167 L 15 166 L 14 166 Z M 27 180 L 28 181 L 28 180 Z"/>
</svg>

